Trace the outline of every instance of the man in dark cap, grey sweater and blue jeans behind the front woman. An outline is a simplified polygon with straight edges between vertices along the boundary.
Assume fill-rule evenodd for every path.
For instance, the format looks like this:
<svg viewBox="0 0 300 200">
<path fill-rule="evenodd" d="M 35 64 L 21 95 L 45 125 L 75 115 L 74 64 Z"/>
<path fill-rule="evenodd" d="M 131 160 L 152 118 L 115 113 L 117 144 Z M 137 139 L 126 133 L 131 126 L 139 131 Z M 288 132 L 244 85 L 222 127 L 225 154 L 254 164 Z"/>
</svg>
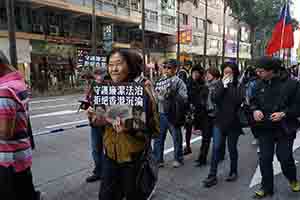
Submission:
<svg viewBox="0 0 300 200">
<path fill-rule="evenodd" d="M 164 143 L 167 130 L 173 138 L 174 162 L 173 167 L 183 165 L 183 145 L 181 126 L 185 121 L 185 105 L 187 103 L 187 88 L 185 83 L 176 76 L 178 63 L 169 60 L 164 63 L 164 76 L 155 85 L 160 113 L 160 137 L 154 140 L 154 156 L 163 167 Z"/>
</svg>

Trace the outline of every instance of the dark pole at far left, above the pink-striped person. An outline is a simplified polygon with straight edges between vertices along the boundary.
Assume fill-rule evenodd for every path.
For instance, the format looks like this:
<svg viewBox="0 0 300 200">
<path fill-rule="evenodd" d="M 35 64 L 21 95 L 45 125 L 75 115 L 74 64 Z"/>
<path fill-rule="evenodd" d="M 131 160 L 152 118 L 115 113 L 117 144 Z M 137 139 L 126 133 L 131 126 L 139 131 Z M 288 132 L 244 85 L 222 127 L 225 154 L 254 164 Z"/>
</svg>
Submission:
<svg viewBox="0 0 300 200">
<path fill-rule="evenodd" d="M 16 19 L 15 19 L 15 0 L 6 0 L 6 14 L 9 37 L 9 54 L 11 65 L 18 68 L 17 45 L 16 45 Z"/>
</svg>

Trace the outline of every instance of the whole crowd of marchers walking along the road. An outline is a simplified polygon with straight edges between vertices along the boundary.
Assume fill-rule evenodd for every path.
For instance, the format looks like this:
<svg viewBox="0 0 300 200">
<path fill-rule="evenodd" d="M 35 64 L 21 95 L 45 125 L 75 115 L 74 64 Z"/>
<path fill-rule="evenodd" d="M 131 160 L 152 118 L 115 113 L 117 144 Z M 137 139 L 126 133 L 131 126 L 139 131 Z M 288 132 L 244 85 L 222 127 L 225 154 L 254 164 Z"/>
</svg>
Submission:
<svg viewBox="0 0 300 200">
<path fill-rule="evenodd" d="M 230 170 L 225 180 L 234 182 L 239 178 L 242 146 L 238 143 L 245 127 L 251 129 L 258 145 L 262 175 L 261 188 L 254 192 L 253 198 L 273 195 L 275 153 L 291 190 L 300 192 L 293 157 L 293 143 L 300 126 L 300 83 L 279 59 L 262 57 L 244 72 L 234 62 L 208 69 L 194 65 L 184 75 L 178 73 L 182 72 L 178 62 L 171 59 L 159 67 L 156 81 L 143 76 L 143 63 L 134 50 L 112 51 L 107 60 L 107 74 L 102 69 L 95 71 L 82 101 L 81 108 L 86 110 L 91 126 L 95 163 L 93 174 L 86 181 L 101 180 L 99 200 L 150 199 L 157 190 L 159 168 L 165 167 L 167 133 L 171 134 L 174 146 L 172 167 L 180 170 L 185 155 L 192 153 L 192 135 L 201 134 L 195 167 L 209 165 L 203 186 L 218 184 L 218 165 L 224 160 L 226 150 Z M 128 83 L 144 88 L 141 113 L 145 113 L 146 121 L 139 130 L 128 128 L 120 117 L 107 120 L 94 105 L 95 86 Z M 31 175 L 33 143 L 28 131 L 26 94 L 22 77 L 1 53 L 1 199 L 41 199 Z M 130 123 L 142 124 L 139 119 Z"/>
</svg>

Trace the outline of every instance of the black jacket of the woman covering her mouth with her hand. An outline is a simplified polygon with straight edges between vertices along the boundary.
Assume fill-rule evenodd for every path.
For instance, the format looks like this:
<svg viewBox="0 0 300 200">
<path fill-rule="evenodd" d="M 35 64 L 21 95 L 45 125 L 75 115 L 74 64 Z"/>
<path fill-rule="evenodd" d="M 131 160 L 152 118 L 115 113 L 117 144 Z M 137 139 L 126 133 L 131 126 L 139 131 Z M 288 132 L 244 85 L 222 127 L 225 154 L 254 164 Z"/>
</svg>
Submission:
<svg viewBox="0 0 300 200">
<path fill-rule="evenodd" d="M 217 104 L 216 126 L 224 134 L 230 133 L 231 130 L 236 130 L 235 133 L 242 133 L 237 114 L 243 99 L 239 87 L 229 84 L 228 88 L 224 88 L 223 83 L 220 82 L 213 99 Z"/>
</svg>

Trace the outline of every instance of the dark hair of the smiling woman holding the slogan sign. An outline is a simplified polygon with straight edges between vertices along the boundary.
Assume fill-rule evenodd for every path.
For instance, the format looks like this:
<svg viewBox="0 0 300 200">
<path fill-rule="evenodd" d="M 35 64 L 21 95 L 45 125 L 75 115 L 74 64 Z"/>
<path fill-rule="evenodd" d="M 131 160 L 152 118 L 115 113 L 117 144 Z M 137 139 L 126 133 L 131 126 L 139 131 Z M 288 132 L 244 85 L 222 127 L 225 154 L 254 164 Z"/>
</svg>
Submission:
<svg viewBox="0 0 300 200">
<path fill-rule="evenodd" d="M 141 75 L 144 63 L 143 58 L 137 51 L 134 50 L 114 49 L 107 57 L 107 66 L 111 56 L 117 53 L 120 54 L 128 66 L 128 81 L 133 81 L 135 78 Z"/>
</svg>

